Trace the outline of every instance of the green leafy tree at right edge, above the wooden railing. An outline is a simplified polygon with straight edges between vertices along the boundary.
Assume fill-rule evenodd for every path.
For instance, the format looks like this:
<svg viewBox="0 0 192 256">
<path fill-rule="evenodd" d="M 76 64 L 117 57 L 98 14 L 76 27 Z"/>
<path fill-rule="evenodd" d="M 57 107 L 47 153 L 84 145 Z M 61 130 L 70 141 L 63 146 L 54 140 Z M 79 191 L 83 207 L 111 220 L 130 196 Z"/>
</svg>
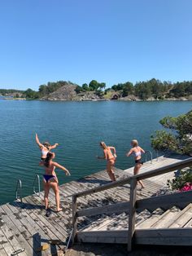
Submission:
<svg viewBox="0 0 192 256">
<path fill-rule="evenodd" d="M 179 117 L 164 117 L 159 123 L 170 131 L 157 130 L 155 136 L 151 136 L 152 147 L 192 157 L 192 111 Z"/>
</svg>

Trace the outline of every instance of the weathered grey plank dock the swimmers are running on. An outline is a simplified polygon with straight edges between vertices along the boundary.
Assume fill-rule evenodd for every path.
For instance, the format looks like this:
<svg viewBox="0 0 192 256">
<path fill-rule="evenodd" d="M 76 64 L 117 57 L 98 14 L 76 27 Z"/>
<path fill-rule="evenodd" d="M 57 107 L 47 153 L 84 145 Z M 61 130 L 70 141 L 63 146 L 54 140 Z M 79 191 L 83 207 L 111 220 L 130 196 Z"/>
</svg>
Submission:
<svg viewBox="0 0 192 256">
<path fill-rule="evenodd" d="M 159 157 L 147 161 L 142 166 L 142 172 L 155 170 L 160 166 L 167 166 L 171 163 L 184 160 L 185 156 Z M 128 170 L 116 169 L 117 179 L 125 179 L 133 174 L 133 168 Z M 137 188 L 137 199 L 156 195 L 165 186 L 167 179 L 173 174 L 168 173 L 150 179 L 145 179 L 145 189 Z M 16 250 L 24 249 L 19 256 L 23 255 L 63 255 L 63 249 L 68 242 L 68 236 L 72 232 L 72 195 L 90 188 L 96 188 L 110 183 L 106 170 L 86 176 L 82 179 L 65 183 L 59 186 L 61 196 L 61 206 L 63 211 L 55 212 L 55 195 L 50 191 L 50 206 L 52 213 L 46 217 L 43 205 L 43 192 L 40 196 L 27 196 L 23 202 L 13 201 L 0 206 L 0 255 L 7 256 Z M 118 188 L 111 188 L 107 191 L 97 192 L 94 195 L 83 196 L 78 200 L 77 209 L 84 210 L 89 207 L 99 207 L 101 205 L 113 205 L 129 201 L 129 184 Z M 107 209 L 107 208 L 106 208 Z M 191 208 L 190 208 L 191 209 Z M 137 217 L 137 222 L 144 221 L 147 214 Z M 190 218 L 190 217 L 189 217 Z M 190 223 L 192 222 L 189 220 Z M 140 223 L 141 224 L 141 223 Z M 100 213 L 98 216 L 78 218 L 78 229 L 80 230 L 120 230 L 128 225 L 127 214 L 106 214 Z M 44 251 L 41 246 L 48 245 Z M 39 251 L 38 251 L 39 250 Z"/>
</svg>

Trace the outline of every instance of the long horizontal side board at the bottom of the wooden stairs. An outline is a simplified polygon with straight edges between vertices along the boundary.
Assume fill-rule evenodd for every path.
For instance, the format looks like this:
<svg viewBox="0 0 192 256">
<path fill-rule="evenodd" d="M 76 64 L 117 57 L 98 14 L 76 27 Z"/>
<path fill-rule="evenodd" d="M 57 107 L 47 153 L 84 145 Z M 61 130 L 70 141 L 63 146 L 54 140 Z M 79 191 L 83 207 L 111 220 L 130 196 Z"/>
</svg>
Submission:
<svg viewBox="0 0 192 256">
<path fill-rule="evenodd" d="M 191 228 L 159 228 L 136 230 L 137 245 L 192 245 Z M 127 244 L 128 230 L 77 232 L 76 241 L 84 243 Z"/>
</svg>

